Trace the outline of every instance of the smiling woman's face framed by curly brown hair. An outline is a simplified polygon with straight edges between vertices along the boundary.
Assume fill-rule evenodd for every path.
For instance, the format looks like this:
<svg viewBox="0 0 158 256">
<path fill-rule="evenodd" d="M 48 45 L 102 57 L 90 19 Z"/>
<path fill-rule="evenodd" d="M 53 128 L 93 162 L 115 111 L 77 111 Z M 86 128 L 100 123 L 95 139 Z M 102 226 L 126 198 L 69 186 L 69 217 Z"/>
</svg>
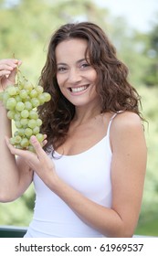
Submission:
<svg viewBox="0 0 158 256">
<path fill-rule="evenodd" d="M 72 38 L 56 48 L 57 80 L 60 91 L 76 107 L 98 104 L 97 72 L 85 59 L 87 40 Z"/>
</svg>

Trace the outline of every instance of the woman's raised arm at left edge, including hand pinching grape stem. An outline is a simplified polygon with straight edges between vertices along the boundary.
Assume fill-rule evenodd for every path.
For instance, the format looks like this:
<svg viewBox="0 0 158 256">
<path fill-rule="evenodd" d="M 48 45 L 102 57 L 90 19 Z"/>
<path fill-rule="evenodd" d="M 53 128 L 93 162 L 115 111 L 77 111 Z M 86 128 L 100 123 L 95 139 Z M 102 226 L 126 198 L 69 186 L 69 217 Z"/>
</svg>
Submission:
<svg viewBox="0 0 158 256">
<path fill-rule="evenodd" d="M 0 60 L 0 91 L 9 84 L 15 83 L 16 67 L 20 65 L 16 59 Z M 12 155 L 5 144 L 5 136 L 11 137 L 11 122 L 6 116 L 3 102 L 0 101 L 0 201 L 16 199 L 26 190 L 32 180 L 32 172 L 23 159 Z"/>
</svg>

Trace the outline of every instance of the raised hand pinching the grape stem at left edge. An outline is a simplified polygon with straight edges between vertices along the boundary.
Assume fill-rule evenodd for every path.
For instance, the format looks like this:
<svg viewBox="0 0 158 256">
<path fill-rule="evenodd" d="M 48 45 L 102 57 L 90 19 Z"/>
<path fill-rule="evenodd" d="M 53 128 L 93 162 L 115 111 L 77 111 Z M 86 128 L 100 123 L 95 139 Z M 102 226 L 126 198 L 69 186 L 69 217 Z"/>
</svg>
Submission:
<svg viewBox="0 0 158 256">
<path fill-rule="evenodd" d="M 8 85 L 15 84 L 16 68 L 21 63 L 18 59 L 0 59 L 0 91 L 4 91 Z"/>
</svg>

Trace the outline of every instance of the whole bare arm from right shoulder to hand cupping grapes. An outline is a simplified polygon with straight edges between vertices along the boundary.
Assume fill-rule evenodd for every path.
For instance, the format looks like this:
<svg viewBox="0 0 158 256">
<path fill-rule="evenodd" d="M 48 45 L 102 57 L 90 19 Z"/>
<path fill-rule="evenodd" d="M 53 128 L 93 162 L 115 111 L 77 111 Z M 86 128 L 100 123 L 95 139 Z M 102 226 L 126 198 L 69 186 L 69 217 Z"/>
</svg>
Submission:
<svg viewBox="0 0 158 256">
<path fill-rule="evenodd" d="M 12 154 L 24 157 L 47 187 L 62 198 L 73 211 L 94 229 L 107 237 L 132 237 L 142 204 L 146 168 L 146 145 L 140 118 L 125 112 L 115 117 L 111 125 L 112 206 L 105 208 L 82 196 L 61 180 L 55 166 L 32 137 L 37 155 L 15 149 Z"/>
</svg>

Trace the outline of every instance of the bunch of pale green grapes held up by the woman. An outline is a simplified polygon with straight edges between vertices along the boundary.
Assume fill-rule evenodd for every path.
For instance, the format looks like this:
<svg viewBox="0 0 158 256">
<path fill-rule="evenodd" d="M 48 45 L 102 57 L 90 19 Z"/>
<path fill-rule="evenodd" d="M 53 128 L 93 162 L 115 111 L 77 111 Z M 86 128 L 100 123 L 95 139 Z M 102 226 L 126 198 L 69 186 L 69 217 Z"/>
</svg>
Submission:
<svg viewBox="0 0 158 256">
<path fill-rule="evenodd" d="M 29 83 L 24 76 L 22 80 L 19 73 L 18 70 L 16 84 L 7 86 L 0 93 L 0 100 L 7 110 L 7 117 L 16 125 L 16 132 L 10 138 L 10 143 L 16 148 L 34 152 L 30 137 L 35 135 L 40 144 L 44 140 L 44 134 L 40 133 L 42 120 L 38 116 L 37 107 L 50 101 L 51 96 L 40 85 Z"/>
</svg>

